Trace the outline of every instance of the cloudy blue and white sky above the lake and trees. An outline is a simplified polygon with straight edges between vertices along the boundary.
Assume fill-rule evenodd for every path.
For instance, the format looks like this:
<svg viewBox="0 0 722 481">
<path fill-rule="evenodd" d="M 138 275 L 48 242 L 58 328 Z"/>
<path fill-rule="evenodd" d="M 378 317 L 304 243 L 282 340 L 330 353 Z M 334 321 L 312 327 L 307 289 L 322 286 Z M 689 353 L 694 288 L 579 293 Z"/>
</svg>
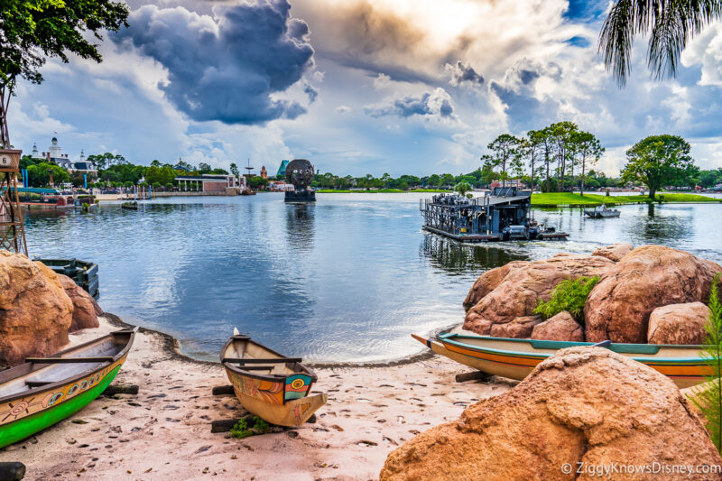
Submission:
<svg viewBox="0 0 722 481">
<path fill-rule="evenodd" d="M 722 167 L 722 23 L 690 42 L 675 79 L 651 79 L 638 39 L 619 89 L 597 55 L 606 1 L 127 2 L 102 63 L 50 60 L 42 85 L 20 82 L 16 147 L 47 151 L 57 133 L 70 158 L 458 175 L 499 134 L 569 120 L 601 140 L 608 174 L 652 134 Z"/>
</svg>

